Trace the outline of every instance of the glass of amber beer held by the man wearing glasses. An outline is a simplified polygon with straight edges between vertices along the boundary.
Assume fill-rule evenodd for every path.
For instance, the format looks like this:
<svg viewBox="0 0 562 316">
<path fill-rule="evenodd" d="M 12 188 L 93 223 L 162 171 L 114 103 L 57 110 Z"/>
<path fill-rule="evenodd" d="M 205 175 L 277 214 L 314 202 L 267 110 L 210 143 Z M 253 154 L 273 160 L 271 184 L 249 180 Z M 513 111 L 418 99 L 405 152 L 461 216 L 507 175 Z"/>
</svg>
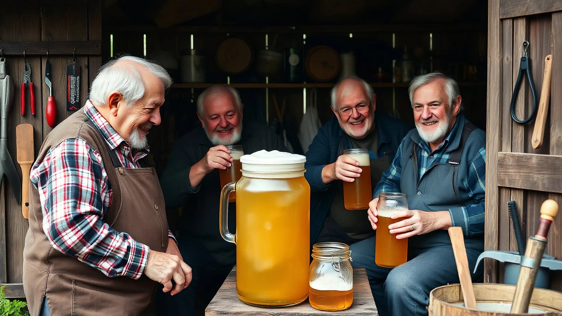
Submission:
<svg viewBox="0 0 562 316">
<path fill-rule="evenodd" d="M 359 161 L 361 173 L 353 182 L 343 182 L 343 205 L 347 210 L 364 210 L 369 208 L 373 200 L 371 191 L 371 162 L 366 149 L 346 149 L 343 155 Z"/>
</svg>

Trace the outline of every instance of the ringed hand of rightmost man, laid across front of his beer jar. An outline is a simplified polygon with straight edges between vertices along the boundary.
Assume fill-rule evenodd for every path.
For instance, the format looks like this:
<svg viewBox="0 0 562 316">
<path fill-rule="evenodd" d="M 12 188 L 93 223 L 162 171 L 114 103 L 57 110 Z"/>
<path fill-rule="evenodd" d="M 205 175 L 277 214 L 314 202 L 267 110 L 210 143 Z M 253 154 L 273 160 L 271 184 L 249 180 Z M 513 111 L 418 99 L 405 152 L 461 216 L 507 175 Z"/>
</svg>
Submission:
<svg viewBox="0 0 562 316">
<path fill-rule="evenodd" d="M 425 212 L 420 210 L 404 210 L 392 214 L 392 219 L 406 218 L 398 223 L 388 225 L 391 234 L 397 234 L 397 239 L 408 238 L 415 235 L 427 234 L 439 229 L 437 212 Z M 447 214 L 448 215 L 448 214 Z M 410 230 L 410 225 L 412 230 Z"/>
</svg>

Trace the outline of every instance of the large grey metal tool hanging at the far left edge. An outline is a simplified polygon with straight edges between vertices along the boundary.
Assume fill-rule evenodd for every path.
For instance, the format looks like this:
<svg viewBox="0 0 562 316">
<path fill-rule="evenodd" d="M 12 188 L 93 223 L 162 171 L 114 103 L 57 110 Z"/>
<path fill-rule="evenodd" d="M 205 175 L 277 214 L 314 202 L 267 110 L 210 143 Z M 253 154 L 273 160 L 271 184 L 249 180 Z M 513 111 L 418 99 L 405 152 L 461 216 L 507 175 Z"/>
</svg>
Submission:
<svg viewBox="0 0 562 316">
<path fill-rule="evenodd" d="M 12 106 L 13 83 L 6 71 L 6 58 L 0 49 L 0 186 L 3 175 L 6 174 L 17 204 L 21 204 L 21 182 L 8 152 L 8 113 Z"/>
</svg>

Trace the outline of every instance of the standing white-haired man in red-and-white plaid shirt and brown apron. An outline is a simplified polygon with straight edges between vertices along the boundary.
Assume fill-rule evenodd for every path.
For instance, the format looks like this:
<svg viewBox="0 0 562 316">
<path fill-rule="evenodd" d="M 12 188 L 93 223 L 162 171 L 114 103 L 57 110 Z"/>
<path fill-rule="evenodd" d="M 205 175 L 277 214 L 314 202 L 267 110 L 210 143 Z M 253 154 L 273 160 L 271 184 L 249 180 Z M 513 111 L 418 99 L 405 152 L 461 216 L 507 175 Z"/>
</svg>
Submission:
<svg viewBox="0 0 562 316">
<path fill-rule="evenodd" d="M 31 315 L 140 315 L 158 283 L 176 294 L 191 282 L 146 138 L 170 85 L 142 58 L 109 61 L 84 107 L 43 142 L 24 247 Z"/>
</svg>

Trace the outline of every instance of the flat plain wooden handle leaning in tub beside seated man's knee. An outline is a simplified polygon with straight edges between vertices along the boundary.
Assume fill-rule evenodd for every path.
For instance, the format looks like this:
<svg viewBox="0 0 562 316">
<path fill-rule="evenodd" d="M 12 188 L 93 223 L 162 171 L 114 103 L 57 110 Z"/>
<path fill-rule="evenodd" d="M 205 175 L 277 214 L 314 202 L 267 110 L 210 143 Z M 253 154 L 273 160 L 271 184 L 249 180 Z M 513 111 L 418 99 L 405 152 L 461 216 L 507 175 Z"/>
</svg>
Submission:
<svg viewBox="0 0 562 316">
<path fill-rule="evenodd" d="M 470 277 L 470 270 L 468 269 L 463 229 L 460 227 L 450 227 L 448 231 L 449 237 L 451 237 L 453 253 L 455 254 L 457 272 L 459 273 L 460 289 L 463 291 L 464 306 L 466 308 L 476 309 L 476 297 L 474 296 L 472 278 Z"/>
</svg>

